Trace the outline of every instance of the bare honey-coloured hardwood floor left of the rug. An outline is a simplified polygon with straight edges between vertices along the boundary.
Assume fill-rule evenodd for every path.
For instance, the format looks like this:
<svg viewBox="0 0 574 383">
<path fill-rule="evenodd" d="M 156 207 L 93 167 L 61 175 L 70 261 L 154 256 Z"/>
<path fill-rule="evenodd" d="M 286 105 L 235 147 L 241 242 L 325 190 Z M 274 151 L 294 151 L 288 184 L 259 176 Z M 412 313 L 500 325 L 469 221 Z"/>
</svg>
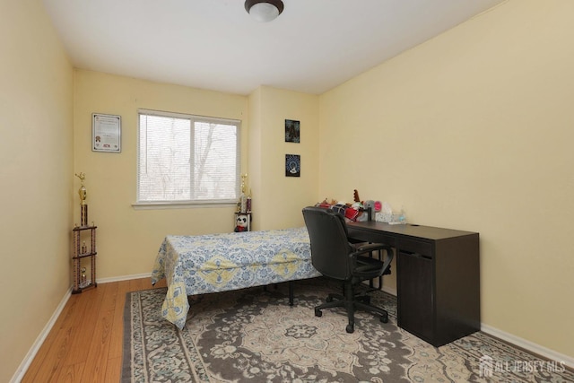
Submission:
<svg viewBox="0 0 574 383">
<path fill-rule="evenodd" d="M 22 382 L 118 382 L 126 292 L 160 287 L 165 280 L 152 286 L 141 278 L 72 295 Z"/>
</svg>

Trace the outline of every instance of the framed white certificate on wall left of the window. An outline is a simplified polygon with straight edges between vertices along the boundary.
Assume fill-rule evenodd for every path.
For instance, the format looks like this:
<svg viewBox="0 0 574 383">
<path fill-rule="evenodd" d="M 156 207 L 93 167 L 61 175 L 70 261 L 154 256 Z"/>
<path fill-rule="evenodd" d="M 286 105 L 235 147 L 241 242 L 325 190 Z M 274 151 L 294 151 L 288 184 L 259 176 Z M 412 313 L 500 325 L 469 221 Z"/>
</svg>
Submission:
<svg viewBox="0 0 574 383">
<path fill-rule="evenodd" d="M 115 115 L 91 115 L 91 151 L 122 151 L 122 118 Z"/>
</svg>

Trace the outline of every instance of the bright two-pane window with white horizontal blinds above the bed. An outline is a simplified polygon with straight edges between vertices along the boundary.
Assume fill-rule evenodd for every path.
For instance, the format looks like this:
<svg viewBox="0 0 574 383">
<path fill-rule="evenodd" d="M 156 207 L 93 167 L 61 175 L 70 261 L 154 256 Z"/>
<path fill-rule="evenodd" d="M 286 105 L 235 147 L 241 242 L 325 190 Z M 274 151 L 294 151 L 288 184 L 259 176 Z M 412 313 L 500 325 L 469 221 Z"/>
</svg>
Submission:
<svg viewBox="0 0 574 383">
<path fill-rule="evenodd" d="M 139 111 L 137 203 L 236 203 L 239 121 Z"/>
</svg>

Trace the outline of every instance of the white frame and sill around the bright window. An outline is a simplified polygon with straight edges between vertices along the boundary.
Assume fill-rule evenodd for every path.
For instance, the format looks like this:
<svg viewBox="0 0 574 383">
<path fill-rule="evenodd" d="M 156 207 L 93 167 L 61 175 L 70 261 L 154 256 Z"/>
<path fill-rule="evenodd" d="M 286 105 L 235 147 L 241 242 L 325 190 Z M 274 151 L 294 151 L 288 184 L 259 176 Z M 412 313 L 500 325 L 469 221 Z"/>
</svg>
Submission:
<svg viewBox="0 0 574 383">
<path fill-rule="evenodd" d="M 159 116 L 159 117 L 165 117 L 165 118 L 183 118 L 183 119 L 189 119 L 191 122 L 191 128 L 192 128 L 192 132 L 191 132 L 191 137 L 190 137 L 190 142 L 189 144 L 191 145 L 191 155 L 193 156 L 193 145 L 194 145 L 194 141 L 193 141 L 193 128 L 194 128 L 194 123 L 196 121 L 200 121 L 200 122 L 208 122 L 208 123 L 222 123 L 225 125 L 234 125 L 237 127 L 237 139 L 236 139 L 236 169 L 235 169 L 235 198 L 229 198 L 229 199 L 189 199 L 189 200 L 170 200 L 170 201 L 161 201 L 161 200 L 157 200 L 157 201 L 141 201 L 139 200 L 139 196 L 140 196 L 140 181 L 139 181 L 139 177 L 140 177 L 140 116 L 141 115 L 148 115 L 148 116 Z M 239 198 L 239 177 L 241 174 L 240 171 L 240 165 L 241 165 L 241 161 L 240 161 L 240 148 L 241 148 L 241 144 L 240 144 L 240 132 L 241 132 L 241 121 L 237 120 L 237 119 L 230 119 L 230 118 L 213 118 L 213 117 L 205 117 L 205 116 L 197 116 L 197 115 L 190 115 L 190 114 L 184 114 L 184 113 L 175 113 L 175 112 L 164 112 L 164 111 L 159 111 L 159 110 L 151 110 L 151 109 L 138 109 L 137 110 L 137 142 L 136 142 L 136 175 L 135 175 L 135 181 L 136 181 L 136 194 L 135 194 L 135 204 L 133 204 L 135 209 L 158 209 L 158 208 L 165 208 L 165 209 L 170 209 L 170 208 L 187 208 L 187 207 L 210 207 L 210 206 L 235 206 L 237 205 L 237 201 Z M 193 169 L 190 170 L 192 173 L 192 177 L 193 177 Z"/>
</svg>

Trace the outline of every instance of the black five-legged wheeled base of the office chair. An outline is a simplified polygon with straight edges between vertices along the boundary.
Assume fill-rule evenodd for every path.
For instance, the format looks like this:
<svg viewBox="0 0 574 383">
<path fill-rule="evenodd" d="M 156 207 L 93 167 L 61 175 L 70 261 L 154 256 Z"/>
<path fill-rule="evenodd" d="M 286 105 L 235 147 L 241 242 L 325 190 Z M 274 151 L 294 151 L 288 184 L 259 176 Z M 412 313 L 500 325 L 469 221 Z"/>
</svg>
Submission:
<svg viewBox="0 0 574 383">
<path fill-rule="evenodd" d="M 388 322 L 387 310 L 370 305 L 370 296 L 368 295 L 356 296 L 354 294 L 353 286 L 351 283 L 345 283 L 344 295 L 334 293 L 329 294 L 326 297 L 326 303 L 323 303 L 322 305 L 319 305 L 315 308 L 315 316 L 321 317 L 323 315 L 323 312 L 321 311 L 322 309 L 331 309 L 335 307 L 343 307 L 346 309 L 349 324 L 346 326 L 345 330 L 349 334 L 354 332 L 354 313 L 356 309 L 362 309 L 373 314 L 378 314 L 380 315 L 381 322 Z"/>
</svg>

